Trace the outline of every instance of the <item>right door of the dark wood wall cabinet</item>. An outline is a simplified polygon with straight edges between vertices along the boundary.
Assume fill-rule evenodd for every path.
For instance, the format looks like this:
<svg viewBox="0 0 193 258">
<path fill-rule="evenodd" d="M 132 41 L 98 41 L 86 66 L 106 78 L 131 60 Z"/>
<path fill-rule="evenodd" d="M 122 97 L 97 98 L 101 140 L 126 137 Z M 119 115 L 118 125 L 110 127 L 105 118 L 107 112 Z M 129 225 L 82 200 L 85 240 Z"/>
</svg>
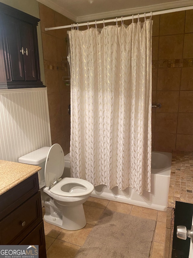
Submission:
<svg viewBox="0 0 193 258">
<path fill-rule="evenodd" d="M 24 48 L 24 72 L 26 81 L 36 81 L 36 58 L 34 48 L 33 25 L 20 21 L 21 42 Z"/>
</svg>

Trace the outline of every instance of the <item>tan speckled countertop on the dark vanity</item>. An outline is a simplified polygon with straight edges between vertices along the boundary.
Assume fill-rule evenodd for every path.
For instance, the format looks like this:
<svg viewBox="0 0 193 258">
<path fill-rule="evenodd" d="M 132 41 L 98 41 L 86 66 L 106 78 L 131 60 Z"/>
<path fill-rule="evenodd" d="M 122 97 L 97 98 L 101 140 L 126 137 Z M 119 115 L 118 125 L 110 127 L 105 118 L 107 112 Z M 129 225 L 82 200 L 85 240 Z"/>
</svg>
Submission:
<svg viewBox="0 0 193 258">
<path fill-rule="evenodd" d="M 0 160 L 0 195 L 29 178 L 41 168 L 34 165 Z"/>
</svg>

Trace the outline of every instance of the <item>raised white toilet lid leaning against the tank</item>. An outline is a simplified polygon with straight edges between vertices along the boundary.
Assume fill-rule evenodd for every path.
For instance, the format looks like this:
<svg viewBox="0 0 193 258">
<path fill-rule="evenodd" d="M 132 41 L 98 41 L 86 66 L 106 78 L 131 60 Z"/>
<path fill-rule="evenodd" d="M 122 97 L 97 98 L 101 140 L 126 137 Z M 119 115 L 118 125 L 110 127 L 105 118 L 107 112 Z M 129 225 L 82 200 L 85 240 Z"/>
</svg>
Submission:
<svg viewBox="0 0 193 258">
<path fill-rule="evenodd" d="M 64 152 L 62 147 L 55 143 L 50 148 L 45 165 L 45 181 L 46 187 L 49 187 L 52 182 L 55 182 L 57 177 L 60 178 L 64 172 Z"/>
</svg>

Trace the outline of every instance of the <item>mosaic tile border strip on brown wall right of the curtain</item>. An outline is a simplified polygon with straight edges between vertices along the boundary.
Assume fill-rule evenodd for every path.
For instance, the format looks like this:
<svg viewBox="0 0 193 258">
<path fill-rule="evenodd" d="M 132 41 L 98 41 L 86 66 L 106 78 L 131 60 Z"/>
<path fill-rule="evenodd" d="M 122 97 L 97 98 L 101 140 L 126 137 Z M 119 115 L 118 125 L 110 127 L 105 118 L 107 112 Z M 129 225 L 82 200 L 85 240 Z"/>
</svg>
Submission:
<svg viewBox="0 0 193 258">
<path fill-rule="evenodd" d="M 193 58 L 152 60 L 152 68 L 193 67 Z"/>
</svg>

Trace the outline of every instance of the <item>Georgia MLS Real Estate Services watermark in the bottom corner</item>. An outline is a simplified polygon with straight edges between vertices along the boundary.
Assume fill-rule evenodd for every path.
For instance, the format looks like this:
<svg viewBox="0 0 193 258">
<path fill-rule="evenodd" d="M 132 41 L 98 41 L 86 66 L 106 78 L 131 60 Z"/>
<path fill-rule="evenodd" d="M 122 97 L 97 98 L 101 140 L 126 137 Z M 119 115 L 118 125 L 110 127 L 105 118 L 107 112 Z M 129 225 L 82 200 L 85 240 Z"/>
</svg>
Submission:
<svg viewBox="0 0 193 258">
<path fill-rule="evenodd" d="M 0 258 L 39 258 L 39 246 L 0 245 Z"/>
</svg>

